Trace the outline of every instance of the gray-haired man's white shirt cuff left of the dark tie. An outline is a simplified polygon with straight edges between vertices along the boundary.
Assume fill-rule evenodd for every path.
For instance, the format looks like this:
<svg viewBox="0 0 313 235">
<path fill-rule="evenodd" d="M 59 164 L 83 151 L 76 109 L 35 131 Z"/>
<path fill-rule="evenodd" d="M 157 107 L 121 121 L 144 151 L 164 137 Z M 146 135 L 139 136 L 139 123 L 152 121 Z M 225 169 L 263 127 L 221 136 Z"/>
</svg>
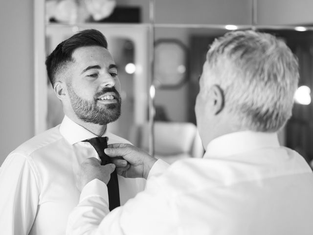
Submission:
<svg viewBox="0 0 313 235">
<path fill-rule="evenodd" d="M 100 196 L 109 204 L 108 187 L 101 180 L 94 179 L 85 185 L 80 194 L 79 203 L 92 196 Z"/>
</svg>

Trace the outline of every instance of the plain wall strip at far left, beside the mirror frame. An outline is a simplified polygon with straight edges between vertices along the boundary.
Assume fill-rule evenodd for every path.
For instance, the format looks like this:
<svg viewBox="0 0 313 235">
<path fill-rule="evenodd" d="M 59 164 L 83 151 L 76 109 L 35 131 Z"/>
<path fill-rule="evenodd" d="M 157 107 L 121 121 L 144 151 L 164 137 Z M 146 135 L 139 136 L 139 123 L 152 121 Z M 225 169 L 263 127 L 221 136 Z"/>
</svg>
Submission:
<svg viewBox="0 0 313 235">
<path fill-rule="evenodd" d="M 0 1 L 0 164 L 33 136 L 33 1 Z"/>
</svg>

